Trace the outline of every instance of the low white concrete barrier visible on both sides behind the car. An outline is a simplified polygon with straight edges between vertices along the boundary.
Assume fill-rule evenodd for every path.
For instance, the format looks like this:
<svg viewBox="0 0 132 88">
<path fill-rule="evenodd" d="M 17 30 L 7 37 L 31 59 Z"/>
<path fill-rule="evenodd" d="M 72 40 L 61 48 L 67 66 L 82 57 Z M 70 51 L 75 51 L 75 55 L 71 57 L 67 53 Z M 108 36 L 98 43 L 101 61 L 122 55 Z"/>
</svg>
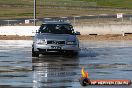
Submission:
<svg viewBox="0 0 132 88">
<path fill-rule="evenodd" d="M 1 26 L 0 35 L 34 36 L 38 29 L 39 26 Z M 82 35 L 132 33 L 132 25 L 87 25 L 76 26 L 74 29 Z"/>
</svg>

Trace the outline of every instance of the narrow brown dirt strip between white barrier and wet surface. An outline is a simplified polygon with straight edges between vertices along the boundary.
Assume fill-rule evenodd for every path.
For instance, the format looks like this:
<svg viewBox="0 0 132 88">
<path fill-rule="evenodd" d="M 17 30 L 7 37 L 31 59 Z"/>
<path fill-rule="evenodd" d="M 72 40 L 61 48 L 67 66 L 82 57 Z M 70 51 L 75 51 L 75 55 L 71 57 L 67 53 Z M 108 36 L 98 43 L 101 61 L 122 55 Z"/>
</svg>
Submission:
<svg viewBox="0 0 132 88">
<path fill-rule="evenodd" d="M 132 40 L 130 35 L 79 35 L 79 40 Z M 0 40 L 32 40 L 32 36 L 0 36 Z"/>
</svg>

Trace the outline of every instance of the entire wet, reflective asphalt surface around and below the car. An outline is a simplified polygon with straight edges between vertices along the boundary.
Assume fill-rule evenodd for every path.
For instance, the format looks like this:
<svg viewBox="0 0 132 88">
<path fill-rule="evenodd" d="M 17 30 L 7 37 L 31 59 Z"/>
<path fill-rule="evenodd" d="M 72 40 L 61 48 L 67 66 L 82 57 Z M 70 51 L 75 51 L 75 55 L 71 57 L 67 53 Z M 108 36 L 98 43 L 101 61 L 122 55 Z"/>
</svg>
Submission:
<svg viewBox="0 0 132 88">
<path fill-rule="evenodd" d="M 132 80 L 131 41 L 80 41 L 76 57 L 32 58 L 31 45 L 31 40 L 0 40 L 0 88 L 132 88 L 78 82 L 82 67 L 90 79 Z"/>
</svg>

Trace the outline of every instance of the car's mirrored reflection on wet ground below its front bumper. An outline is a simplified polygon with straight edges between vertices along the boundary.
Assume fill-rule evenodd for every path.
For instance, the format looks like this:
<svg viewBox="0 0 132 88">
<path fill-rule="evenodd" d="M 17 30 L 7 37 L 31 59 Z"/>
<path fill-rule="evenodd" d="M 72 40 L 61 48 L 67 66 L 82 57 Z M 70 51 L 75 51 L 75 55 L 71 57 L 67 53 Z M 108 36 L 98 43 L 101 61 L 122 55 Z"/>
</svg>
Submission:
<svg viewBox="0 0 132 88">
<path fill-rule="evenodd" d="M 78 57 L 53 55 L 32 60 L 33 88 L 67 88 L 76 79 Z"/>
</svg>

